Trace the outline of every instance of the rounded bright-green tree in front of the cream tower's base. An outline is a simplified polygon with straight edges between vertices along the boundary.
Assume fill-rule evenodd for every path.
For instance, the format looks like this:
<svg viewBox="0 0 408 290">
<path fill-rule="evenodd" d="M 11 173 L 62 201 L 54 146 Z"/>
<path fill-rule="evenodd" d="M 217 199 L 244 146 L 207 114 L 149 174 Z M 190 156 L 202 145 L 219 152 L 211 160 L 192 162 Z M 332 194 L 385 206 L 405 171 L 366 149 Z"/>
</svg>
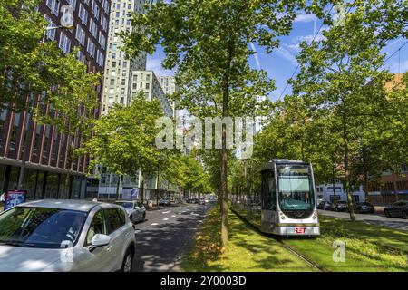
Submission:
<svg viewBox="0 0 408 290">
<path fill-rule="evenodd" d="M 83 153 L 92 158 L 90 170 L 99 165 L 119 177 L 135 176 L 141 170 L 142 202 L 144 173 L 155 172 L 160 160 L 161 152 L 155 146 L 159 129 L 155 124 L 161 111 L 158 100 L 147 101 L 142 93 L 130 106 L 115 104 L 107 115 L 94 121 L 94 135 L 83 148 Z"/>
</svg>

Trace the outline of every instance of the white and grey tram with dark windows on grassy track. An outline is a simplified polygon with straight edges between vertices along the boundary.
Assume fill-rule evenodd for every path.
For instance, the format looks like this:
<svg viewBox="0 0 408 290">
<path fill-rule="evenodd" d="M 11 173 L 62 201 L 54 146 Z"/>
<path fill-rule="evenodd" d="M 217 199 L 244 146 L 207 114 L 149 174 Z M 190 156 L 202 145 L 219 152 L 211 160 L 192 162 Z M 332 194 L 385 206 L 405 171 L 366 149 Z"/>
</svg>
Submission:
<svg viewBox="0 0 408 290">
<path fill-rule="evenodd" d="M 232 189 L 232 208 L 260 231 L 281 237 L 320 235 L 312 165 L 271 160 Z"/>
</svg>

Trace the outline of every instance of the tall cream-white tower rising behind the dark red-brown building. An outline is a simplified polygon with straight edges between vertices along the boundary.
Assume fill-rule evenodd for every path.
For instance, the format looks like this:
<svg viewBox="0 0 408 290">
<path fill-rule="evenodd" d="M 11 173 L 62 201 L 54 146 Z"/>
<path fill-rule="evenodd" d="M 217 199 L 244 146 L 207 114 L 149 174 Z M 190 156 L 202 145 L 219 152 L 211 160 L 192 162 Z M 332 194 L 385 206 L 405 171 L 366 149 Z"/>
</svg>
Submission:
<svg viewBox="0 0 408 290">
<path fill-rule="evenodd" d="M 121 51 L 123 42 L 117 34 L 131 31 L 131 13 L 143 13 L 145 0 L 112 0 L 110 32 L 103 85 L 102 114 L 106 114 L 113 103 L 131 103 L 131 76 L 133 71 L 146 69 L 146 53 L 126 60 Z"/>
</svg>

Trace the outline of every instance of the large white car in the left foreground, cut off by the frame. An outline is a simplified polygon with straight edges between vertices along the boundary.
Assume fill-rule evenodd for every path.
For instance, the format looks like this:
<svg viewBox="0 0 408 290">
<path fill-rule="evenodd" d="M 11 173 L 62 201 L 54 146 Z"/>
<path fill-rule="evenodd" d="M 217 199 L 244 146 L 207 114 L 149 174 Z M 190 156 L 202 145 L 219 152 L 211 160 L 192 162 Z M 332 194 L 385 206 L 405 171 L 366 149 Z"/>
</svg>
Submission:
<svg viewBox="0 0 408 290">
<path fill-rule="evenodd" d="M 135 235 L 112 203 L 44 199 L 0 214 L 1 272 L 130 272 Z"/>
</svg>

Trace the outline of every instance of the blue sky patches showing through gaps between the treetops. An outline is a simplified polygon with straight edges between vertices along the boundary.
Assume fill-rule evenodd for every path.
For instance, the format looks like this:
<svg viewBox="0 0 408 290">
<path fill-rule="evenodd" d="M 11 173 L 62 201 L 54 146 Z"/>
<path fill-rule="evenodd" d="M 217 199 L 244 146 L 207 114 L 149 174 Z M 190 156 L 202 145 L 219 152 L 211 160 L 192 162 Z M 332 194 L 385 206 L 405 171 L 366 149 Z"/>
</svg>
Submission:
<svg viewBox="0 0 408 290">
<path fill-rule="evenodd" d="M 276 81 L 277 89 L 270 92 L 269 99 L 277 100 L 285 87 L 287 80 L 295 72 L 297 62 L 296 54 L 299 52 L 299 43 L 306 40 L 311 42 L 316 35 L 315 41 L 322 39 L 322 31 L 319 28 L 322 21 L 317 19 L 313 14 L 299 14 L 293 24 L 291 33 L 287 36 L 280 37 L 280 46 L 273 53 L 267 54 L 265 50 L 258 46 L 257 43 L 250 43 L 252 50 L 257 53 L 249 58 L 249 64 L 252 68 L 263 69 L 268 73 L 269 78 Z M 384 53 L 390 55 L 398 50 L 405 43 L 405 39 L 397 39 L 387 44 L 384 48 Z M 174 72 L 166 71 L 161 67 L 161 61 L 164 58 L 163 50 L 160 46 L 157 47 L 155 53 L 148 56 L 147 69 L 153 70 L 156 75 L 174 75 Z M 403 46 L 400 53 L 395 53 L 385 66 L 392 73 L 404 73 L 408 71 L 408 45 Z M 298 71 L 296 72 L 298 73 Z M 285 94 L 290 93 L 290 85 L 287 86 Z"/>
</svg>

